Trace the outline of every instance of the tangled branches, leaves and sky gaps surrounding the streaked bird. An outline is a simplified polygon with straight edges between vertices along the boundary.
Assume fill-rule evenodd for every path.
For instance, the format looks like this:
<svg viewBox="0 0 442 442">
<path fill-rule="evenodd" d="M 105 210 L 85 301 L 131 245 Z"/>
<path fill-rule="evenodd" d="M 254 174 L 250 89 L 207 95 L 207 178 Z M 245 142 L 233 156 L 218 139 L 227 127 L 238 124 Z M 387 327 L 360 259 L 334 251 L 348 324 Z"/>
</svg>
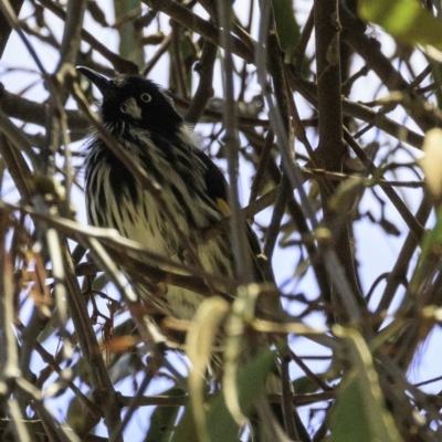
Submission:
<svg viewBox="0 0 442 442">
<path fill-rule="evenodd" d="M 182 354 L 158 358 L 135 327 L 116 264 L 203 292 L 198 272 L 178 281 L 127 262 L 136 244 L 85 225 L 82 145 L 99 97 L 78 64 L 167 86 L 232 185 L 232 217 L 212 233 L 254 220 L 294 319 L 228 315 L 250 332 L 244 345 L 288 335 L 294 392 L 269 399 L 296 404 L 314 441 L 441 440 L 439 2 L 0 7 L 2 440 L 238 439 L 223 396 L 202 408 L 190 382 L 189 399 Z M 203 344 L 221 314 L 210 299 L 207 312 Z M 244 409 L 263 394 L 267 360 L 263 349 L 227 391 Z"/>
</svg>

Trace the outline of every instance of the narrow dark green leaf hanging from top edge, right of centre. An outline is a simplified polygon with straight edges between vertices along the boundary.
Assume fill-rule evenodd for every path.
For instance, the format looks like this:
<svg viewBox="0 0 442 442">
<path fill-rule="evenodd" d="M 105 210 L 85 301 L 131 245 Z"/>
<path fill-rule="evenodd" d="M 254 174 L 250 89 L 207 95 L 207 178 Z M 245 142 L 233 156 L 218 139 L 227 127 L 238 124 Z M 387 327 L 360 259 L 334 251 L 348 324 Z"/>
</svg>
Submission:
<svg viewBox="0 0 442 442">
<path fill-rule="evenodd" d="M 272 0 L 275 15 L 276 31 L 281 49 L 285 52 L 285 63 L 293 63 L 295 48 L 299 40 L 301 31 L 295 20 L 292 0 Z"/>
</svg>

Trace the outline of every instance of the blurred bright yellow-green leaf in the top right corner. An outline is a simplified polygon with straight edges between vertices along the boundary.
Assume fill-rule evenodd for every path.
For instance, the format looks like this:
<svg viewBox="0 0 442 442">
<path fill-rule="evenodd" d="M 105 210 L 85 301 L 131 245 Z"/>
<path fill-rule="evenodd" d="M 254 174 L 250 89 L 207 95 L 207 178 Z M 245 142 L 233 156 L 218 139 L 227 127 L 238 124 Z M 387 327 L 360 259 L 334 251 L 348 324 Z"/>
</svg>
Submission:
<svg viewBox="0 0 442 442">
<path fill-rule="evenodd" d="M 360 0 L 359 15 L 382 27 L 391 36 L 411 45 L 442 50 L 442 22 L 415 0 Z"/>
</svg>

